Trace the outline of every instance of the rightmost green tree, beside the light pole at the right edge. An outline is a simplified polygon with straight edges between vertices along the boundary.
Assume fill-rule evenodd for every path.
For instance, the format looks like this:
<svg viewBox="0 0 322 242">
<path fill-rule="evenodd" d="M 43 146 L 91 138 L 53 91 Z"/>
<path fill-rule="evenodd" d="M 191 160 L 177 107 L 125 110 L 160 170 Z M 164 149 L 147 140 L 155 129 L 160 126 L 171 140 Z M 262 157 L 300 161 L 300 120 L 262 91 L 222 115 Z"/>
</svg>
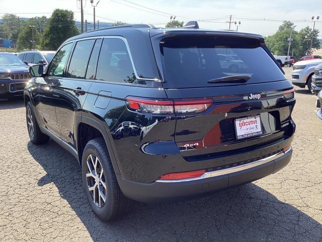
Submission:
<svg viewBox="0 0 322 242">
<path fill-rule="evenodd" d="M 300 55 L 306 55 L 306 54 L 312 54 L 310 53 L 310 44 L 311 44 L 311 34 L 313 35 L 313 41 L 312 41 L 312 48 L 319 49 L 320 48 L 320 43 L 318 41 L 318 33 L 319 31 L 317 29 L 314 29 L 312 33 L 312 29 L 309 28 L 308 26 L 301 29 L 300 32 L 298 33 L 299 36 L 299 52 Z"/>
</svg>

